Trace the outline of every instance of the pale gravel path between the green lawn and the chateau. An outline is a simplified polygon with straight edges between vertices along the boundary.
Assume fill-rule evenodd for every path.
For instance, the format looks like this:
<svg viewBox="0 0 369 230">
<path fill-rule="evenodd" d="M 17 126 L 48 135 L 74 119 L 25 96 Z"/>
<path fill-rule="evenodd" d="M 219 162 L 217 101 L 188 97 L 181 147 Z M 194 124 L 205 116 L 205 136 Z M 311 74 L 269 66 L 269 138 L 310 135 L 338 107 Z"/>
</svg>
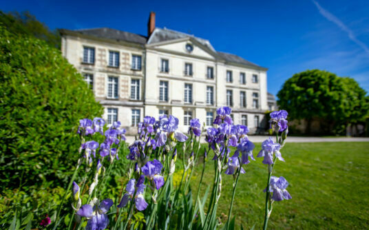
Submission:
<svg viewBox="0 0 369 230">
<path fill-rule="evenodd" d="M 249 136 L 250 140 L 255 143 L 262 143 L 268 136 Z M 201 138 L 204 142 L 204 138 Z M 133 143 L 134 136 L 127 136 L 127 143 Z M 368 137 L 305 137 L 305 136 L 288 136 L 289 143 L 313 143 L 313 142 L 368 142 Z"/>
</svg>

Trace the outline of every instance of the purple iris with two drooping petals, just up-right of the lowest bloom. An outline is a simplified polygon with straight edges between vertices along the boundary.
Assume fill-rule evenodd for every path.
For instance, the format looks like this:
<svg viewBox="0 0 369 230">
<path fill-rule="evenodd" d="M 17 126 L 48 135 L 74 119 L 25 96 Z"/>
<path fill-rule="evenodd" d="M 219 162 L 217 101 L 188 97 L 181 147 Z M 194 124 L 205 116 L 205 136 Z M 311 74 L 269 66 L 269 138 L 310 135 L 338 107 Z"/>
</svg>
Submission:
<svg viewBox="0 0 369 230">
<path fill-rule="evenodd" d="M 127 205 L 127 203 L 129 202 L 129 200 L 131 200 L 134 196 L 134 191 L 137 188 L 136 191 L 136 197 L 135 197 L 135 205 L 136 205 L 136 209 L 138 211 L 143 211 L 147 208 L 147 202 L 145 201 L 145 198 L 143 197 L 143 192 L 145 191 L 146 185 L 142 183 L 137 183 L 138 185 L 136 185 L 135 188 L 135 183 L 136 180 L 134 178 L 132 178 L 131 180 L 129 180 L 129 182 L 127 183 L 127 187 L 125 188 L 125 190 L 127 191 L 126 194 L 124 194 L 122 200 L 120 200 L 120 203 L 118 205 L 119 208 L 121 207 L 125 207 Z"/>
</svg>

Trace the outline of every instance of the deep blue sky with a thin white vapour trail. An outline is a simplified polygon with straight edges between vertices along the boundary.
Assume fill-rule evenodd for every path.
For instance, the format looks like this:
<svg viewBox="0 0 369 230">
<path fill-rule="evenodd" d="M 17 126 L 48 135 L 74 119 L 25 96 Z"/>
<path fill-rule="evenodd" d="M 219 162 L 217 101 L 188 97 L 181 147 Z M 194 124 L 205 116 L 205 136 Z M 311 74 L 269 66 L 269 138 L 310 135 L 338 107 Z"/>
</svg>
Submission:
<svg viewBox="0 0 369 230">
<path fill-rule="evenodd" d="M 156 26 L 209 39 L 215 50 L 268 67 L 268 91 L 308 69 L 351 76 L 369 91 L 369 1 L 1 1 L 50 28 L 109 27 L 147 34 Z"/>
</svg>

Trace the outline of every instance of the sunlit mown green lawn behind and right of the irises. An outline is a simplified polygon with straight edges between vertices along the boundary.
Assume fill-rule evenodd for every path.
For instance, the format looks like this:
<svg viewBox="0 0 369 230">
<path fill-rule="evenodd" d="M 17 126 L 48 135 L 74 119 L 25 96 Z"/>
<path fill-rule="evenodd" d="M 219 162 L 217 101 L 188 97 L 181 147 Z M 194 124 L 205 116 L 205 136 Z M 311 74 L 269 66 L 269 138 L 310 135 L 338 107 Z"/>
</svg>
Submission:
<svg viewBox="0 0 369 230">
<path fill-rule="evenodd" d="M 257 144 L 254 156 L 260 151 Z M 275 202 L 269 229 L 366 229 L 369 226 L 369 143 L 286 143 L 286 162 L 277 161 L 274 176 L 284 176 L 291 200 Z M 207 162 L 202 194 L 213 181 L 213 161 Z M 202 159 L 201 159 L 202 161 Z M 202 166 L 194 172 L 193 189 Z M 245 229 L 262 227 L 267 168 L 262 158 L 244 167 L 236 191 L 233 215 Z M 232 176 L 224 175 L 218 216 L 228 214 Z M 196 190 L 195 190 L 196 191 Z M 224 219 L 225 222 L 225 219 Z"/>
</svg>

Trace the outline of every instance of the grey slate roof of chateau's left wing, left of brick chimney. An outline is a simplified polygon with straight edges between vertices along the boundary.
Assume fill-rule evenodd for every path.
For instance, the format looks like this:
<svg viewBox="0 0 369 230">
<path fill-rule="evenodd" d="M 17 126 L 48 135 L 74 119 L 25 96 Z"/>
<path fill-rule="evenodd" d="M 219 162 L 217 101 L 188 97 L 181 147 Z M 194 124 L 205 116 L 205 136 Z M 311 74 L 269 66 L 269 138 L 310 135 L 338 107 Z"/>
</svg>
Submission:
<svg viewBox="0 0 369 230">
<path fill-rule="evenodd" d="M 134 34 L 130 32 L 125 32 L 122 30 L 115 30 L 112 28 L 94 28 L 94 29 L 83 29 L 83 30 L 67 30 L 70 32 L 77 32 L 79 34 L 85 34 L 89 36 L 96 36 L 102 39 L 112 39 L 118 41 L 129 41 L 132 43 L 139 43 L 145 45 L 147 42 L 147 37 Z"/>
</svg>

